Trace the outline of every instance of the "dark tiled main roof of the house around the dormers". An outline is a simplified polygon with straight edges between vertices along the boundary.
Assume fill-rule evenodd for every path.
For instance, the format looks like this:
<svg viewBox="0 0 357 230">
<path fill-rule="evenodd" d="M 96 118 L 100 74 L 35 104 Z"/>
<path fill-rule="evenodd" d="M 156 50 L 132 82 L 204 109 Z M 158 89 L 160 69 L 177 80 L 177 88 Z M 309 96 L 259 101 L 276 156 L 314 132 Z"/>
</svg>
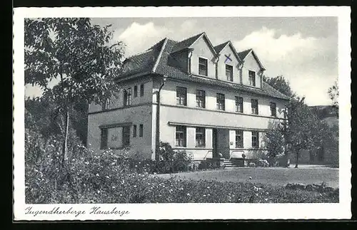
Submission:
<svg viewBox="0 0 357 230">
<path fill-rule="evenodd" d="M 191 43 L 191 45 L 194 43 L 193 37 L 191 38 L 192 39 L 188 38 L 191 41 L 189 42 L 185 41 L 186 44 L 185 46 L 187 46 L 188 43 Z M 196 38 L 196 41 L 198 38 Z M 181 44 L 178 45 L 179 43 Z M 188 47 L 191 45 L 188 45 Z M 168 78 L 173 78 L 177 80 L 186 80 L 190 82 L 202 83 L 207 85 L 217 85 L 223 88 L 233 88 L 246 93 L 267 95 L 273 98 L 281 98 L 285 100 L 289 99 L 288 96 L 283 95 L 283 93 L 280 93 L 278 90 L 274 89 L 273 87 L 271 87 L 271 85 L 268 85 L 268 83 L 265 82 L 263 82 L 263 88 L 251 88 L 246 85 L 228 83 L 225 81 L 216 80 L 214 78 L 211 79 L 211 78 L 200 77 L 197 75 L 191 75 L 190 73 L 187 73 L 183 69 L 178 68 L 178 66 L 171 65 L 171 61 L 170 61 L 172 57 L 171 53 L 177 52 L 178 47 L 182 48 L 183 43 L 173 41 L 169 38 L 164 38 L 163 40 L 159 41 L 159 43 L 156 43 L 154 46 L 151 46 L 151 48 L 149 48 L 147 52 L 141 53 L 137 56 L 132 56 L 130 58 L 132 61 L 135 61 L 136 63 L 141 63 L 143 66 L 141 66 L 137 70 L 131 70 L 129 72 L 121 74 L 119 78 L 117 78 L 117 80 L 119 81 L 121 79 L 129 80 L 139 76 L 144 76 L 154 73 L 156 75 L 166 75 Z"/>
</svg>

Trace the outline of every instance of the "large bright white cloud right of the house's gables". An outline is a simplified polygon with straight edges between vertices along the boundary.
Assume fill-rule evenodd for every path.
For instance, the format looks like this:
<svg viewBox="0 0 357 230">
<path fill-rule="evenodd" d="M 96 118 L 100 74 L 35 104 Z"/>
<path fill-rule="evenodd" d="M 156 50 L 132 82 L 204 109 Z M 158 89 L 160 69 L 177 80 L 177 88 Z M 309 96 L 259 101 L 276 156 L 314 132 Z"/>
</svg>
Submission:
<svg viewBox="0 0 357 230">
<path fill-rule="evenodd" d="M 283 75 L 308 105 L 331 103 L 327 90 L 338 77 L 337 42 L 333 37 L 291 36 L 266 27 L 234 41 L 238 51 L 253 48 L 266 67 L 266 75 Z"/>
</svg>

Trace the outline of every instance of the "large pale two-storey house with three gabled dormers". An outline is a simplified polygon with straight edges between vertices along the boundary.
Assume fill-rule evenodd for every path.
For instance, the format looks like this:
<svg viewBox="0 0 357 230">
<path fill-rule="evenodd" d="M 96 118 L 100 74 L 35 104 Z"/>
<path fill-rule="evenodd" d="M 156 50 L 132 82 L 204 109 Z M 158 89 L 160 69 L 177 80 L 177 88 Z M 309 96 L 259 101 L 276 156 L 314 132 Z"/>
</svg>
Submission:
<svg viewBox="0 0 357 230">
<path fill-rule="evenodd" d="M 206 33 L 164 38 L 124 61 L 114 103 L 89 105 L 88 146 L 130 146 L 151 160 L 159 141 L 194 160 L 261 157 L 289 99 L 263 81 L 264 70 L 252 49 L 213 46 Z"/>
</svg>

